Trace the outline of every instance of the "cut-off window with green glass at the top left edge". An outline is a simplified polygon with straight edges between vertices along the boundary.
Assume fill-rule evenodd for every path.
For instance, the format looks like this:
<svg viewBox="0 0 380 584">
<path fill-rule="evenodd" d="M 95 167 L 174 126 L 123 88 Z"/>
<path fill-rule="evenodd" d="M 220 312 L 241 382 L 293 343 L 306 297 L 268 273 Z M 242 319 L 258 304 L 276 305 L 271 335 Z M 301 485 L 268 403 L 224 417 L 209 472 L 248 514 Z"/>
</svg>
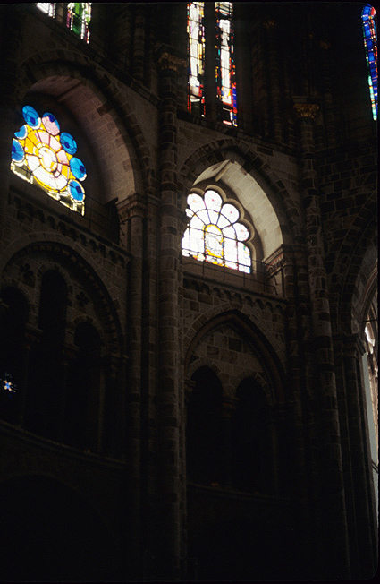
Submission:
<svg viewBox="0 0 380 584">
<path fill-rule="evenodd" d="M 89 43 L 89 21 L 91 20 L 91 2 L 38 2 L 36 5 L 43 13 L 63 21 L 67 28 L 75 32 L 80 39 Z"/>
</svg>

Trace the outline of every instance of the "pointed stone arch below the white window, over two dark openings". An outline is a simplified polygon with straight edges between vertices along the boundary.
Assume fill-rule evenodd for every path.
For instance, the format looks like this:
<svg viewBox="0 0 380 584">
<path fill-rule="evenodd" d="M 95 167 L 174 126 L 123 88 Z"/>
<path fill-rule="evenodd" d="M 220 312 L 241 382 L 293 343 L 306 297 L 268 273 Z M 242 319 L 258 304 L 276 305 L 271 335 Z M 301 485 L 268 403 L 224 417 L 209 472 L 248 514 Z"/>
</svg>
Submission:
<svg viewBox="0 0 380 584">
<path fill-rule="evenodd" d="M 257 349 L 268 379 L 273 383 L 272 391 L 268 391 L 268 402 L 271 405 L 278 402 L 283 403 L 285 400 L 285 374 L 283 366 L 265 335 L 258 329 L 256 324 L 250 321 L 248 316 L 237 309 L 226 310 L 224 313 L 216 313 L 206 322 L 205 318 L 199 318 L 198 322 L 193 324 L 190 333 L 184 339 L 184 345 L 187 347 L 184 358 L 185 374 L 188 374 L 188 371 L 190 370 L 191 355 L 201 339 L 203 339 L 208 332 L 225 324 L 232 325 L 232 327 L 241 333 L 243 338 L 249 339 L 249 342 Z"/>
</svg>

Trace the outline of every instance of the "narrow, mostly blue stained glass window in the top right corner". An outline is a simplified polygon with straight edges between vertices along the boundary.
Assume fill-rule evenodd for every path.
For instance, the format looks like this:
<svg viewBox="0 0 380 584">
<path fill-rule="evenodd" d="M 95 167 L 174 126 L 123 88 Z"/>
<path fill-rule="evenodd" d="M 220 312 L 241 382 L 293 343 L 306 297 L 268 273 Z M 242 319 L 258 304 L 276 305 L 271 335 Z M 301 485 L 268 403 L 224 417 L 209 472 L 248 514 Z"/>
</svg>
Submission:
<svg viewBox="0 0 380 584">
<path fill-rule="evenodd" d="M 361 13 L 361 20 L 363 23 L 364 46 L 366 47 L 369 95 L 374 120 L 377 119 L 377 35 L 375 18 L 375 8 L 367 4 Z"/>
</svg>

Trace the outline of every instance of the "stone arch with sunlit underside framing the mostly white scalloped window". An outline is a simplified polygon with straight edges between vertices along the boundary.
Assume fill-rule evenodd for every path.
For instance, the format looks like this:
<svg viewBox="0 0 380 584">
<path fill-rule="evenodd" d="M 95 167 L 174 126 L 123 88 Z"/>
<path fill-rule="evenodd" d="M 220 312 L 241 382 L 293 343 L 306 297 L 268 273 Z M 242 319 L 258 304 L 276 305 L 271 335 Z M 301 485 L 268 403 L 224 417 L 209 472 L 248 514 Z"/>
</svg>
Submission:
<svg viewBox="0 0 380 584">
<path fill-rule="evenodd" d="M 210 168 L 212 168 L 210 170 Z M 303 222 L 301 210 L 291 198 L 283 182 L 274 174 L 274 171 L 258 157 L 258 154 L 240 140 L 228 138 L 209 142 L 193 152 L 183 163 L 180 171 L 180 192 L 182 210 L 186 207 L 186 195 L 199 177 L 204 180 L 224 180 L 232 184 L 233 176 L 240 173 L 244 190 L 249 185 L 249 195 L 241 191 L 241 204 L 249 211 L 252 219 L 258 221 L 256 228 L 265 246 L 264 255 L 267 257 L 280 245 L 297 243 L 303 238 Z M 227 176 L 228 180 L 227 180 Z M 236 191 L 236 188 L 232 188 Z M 252 194 L 254 201 L 252 200 Z M 260 206 L 263 220 L 257 219 L 252 204 Z M 266 236 L 266 223 L 272 229 L 272 244 Z M 261 233 L 260 233 L 261 232 Z M 275 236 L 274 236 L 275 232 Z"/>
</svg>

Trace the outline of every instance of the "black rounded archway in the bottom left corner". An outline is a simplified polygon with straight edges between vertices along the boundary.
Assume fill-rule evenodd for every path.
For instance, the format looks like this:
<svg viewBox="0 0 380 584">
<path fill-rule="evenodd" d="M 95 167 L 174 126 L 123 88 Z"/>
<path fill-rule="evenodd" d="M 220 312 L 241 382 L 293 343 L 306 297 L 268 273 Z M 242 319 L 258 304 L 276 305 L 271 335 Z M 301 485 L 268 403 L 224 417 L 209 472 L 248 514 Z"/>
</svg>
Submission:
<svg viewBox="0 0 380 584">
<path fill-rule="evenodd" d="M 3 581 L 114 581 L 112 537 L 80 495 L 47 477 L 0 486 Z"/>
</svg>

